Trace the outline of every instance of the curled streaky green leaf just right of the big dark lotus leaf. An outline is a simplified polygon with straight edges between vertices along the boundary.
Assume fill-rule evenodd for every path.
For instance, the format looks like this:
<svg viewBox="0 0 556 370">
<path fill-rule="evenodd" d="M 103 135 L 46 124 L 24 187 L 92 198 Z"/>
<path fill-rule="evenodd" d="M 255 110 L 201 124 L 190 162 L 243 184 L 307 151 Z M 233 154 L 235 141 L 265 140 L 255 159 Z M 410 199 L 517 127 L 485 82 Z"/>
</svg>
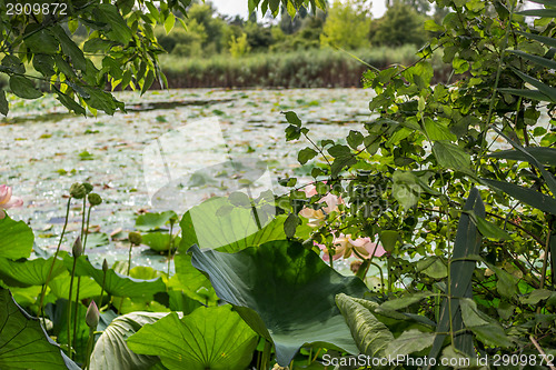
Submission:
<svg viewBox="0 0 556 370">
<path fill-rule="evenodd" d="M 344 314 L 359 351 L 374 358 L 385 357 L 386 347 L 394 340 L 388 328 L 349 296 L 337 294 L 336 304 Z"/>
</svg>

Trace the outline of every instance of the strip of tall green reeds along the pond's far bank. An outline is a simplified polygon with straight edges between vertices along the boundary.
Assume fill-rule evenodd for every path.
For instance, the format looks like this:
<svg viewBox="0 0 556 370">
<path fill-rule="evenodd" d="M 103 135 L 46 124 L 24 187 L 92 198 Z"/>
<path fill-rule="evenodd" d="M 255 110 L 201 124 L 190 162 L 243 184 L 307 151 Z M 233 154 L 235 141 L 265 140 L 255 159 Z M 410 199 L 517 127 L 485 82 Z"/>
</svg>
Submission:
<svg viewBox="0 0 556 370">
<path fill-rule="evenodd" d="M 168 80 L 168 89 L 316 89 L 360 88 L 361 76 L 369 70 L 367 64 L 383 70 L 394 64 L 409 66 L 418 59 L 417 48 L 406 44 L 349 52 L 331 48 L 285 53 L 260 52 L 239 58 L 229 54 L 211 57 L 163 54 L 160 57 L 160 64 Z M 441 82 L 447 80 L 451 66 L 443 63 L 440 58 L 434 58 L 434 70 L 433 81 Z M 39 76 L 38 72 L 36 74 Z M 34 80 L 34 82 L 40 90 L 49 91 L 43 81 Z M 2 88 L 8 88 L 8 80 L 0 79 L 0 89 Z M 160 83 L 156 81 L 150 90 L 160 90 Z M 121 89 L 117 87 L 115 91 Z"/>
</svg>

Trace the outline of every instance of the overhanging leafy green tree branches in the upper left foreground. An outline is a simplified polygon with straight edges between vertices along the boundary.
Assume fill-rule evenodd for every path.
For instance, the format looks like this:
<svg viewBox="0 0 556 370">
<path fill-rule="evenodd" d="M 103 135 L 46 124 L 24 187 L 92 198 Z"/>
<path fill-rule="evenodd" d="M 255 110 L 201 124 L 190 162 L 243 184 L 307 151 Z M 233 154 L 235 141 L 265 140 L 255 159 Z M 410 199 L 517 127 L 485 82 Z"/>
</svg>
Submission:
<svg viewBox="0 0 556 370">
<path fill-rule="evenodd" d="M 288 0 L 288 9 L 308 6 L 309 0 Z M 176 14 L 187 14 L 191 0 L 75 0 L 59 6 L 44 0 L 30 2 L 29 9 L 0 0 L 0 73 L 9 78 L 11 91 L 23 99 L 42 96 L 33 79 L 42 80 L 48 91 L 70 111 L 86 114 L 87 109 L 113 114 L 125 108 L 108 87 L 147 91 L 155 80 L 166 86 L 158 56 L 165 52 L 155 37 L 155 26 L 162 24 L 170 32 Z M 277 2 L 249 1 L 250 11 L 265 7 L 276 16 Z M 324 8 L 322 1 L 316 6 Z M 210 24 L 206 12 L 192 14 Z M 202 17 L 201 17 L 202 16 Z M 202 22 L 199 22 L 202 23 Z M 87 30 L 86 41 L 78 46 L 71 34 L 79 27 Z M 207 29 L 206 24 L 203 24 Z M 210 33 L 211 34 L 211 33 Z M 100 58 L 95 64 L 92 58 Z M 29 68 L 40 76 L 31 77 Z M 4 91 L 0 91 L 0 113 L 8 114 Z"/>
</svg>

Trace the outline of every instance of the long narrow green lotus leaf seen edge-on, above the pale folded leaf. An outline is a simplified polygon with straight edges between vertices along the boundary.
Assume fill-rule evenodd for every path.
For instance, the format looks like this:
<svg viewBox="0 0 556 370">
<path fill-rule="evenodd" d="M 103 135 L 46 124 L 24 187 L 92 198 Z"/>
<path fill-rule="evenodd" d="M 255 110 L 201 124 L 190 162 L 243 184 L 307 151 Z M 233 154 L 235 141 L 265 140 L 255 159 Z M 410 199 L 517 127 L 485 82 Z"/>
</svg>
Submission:
<svg viewBox="0 0 556 370">
<path fill-rule="evenodd" d="M 71 269 L 73 258 L 66 256 L 63 259 L 66 268 Z M 98 284 L 102 284 L 105 272 L 101 268 L 96 268 L 89 262 L 86 256 L 77 260 L 77 276 L 92 277 Z M 145 298 L 151 299 L 156 293 L 166 291 L 166 284 L 161 278 L 157 279 L 135 279 L 108 269 L 105 280 L 105 291 L 116 297 Z"/>
</svg>

